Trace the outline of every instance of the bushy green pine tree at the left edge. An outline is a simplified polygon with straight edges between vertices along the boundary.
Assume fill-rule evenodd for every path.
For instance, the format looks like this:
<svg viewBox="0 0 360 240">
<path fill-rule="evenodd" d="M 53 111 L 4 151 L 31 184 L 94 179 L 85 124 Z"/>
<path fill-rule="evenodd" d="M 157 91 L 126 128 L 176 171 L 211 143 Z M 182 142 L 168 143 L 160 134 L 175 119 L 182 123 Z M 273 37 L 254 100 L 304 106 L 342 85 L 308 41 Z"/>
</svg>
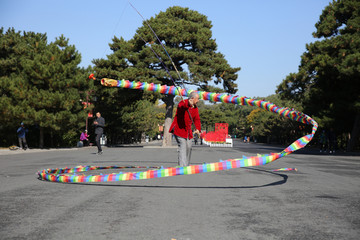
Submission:
<svg viewBox="0 0 360 240">
<path fill-rule="evenodd" d="M 86 112 L 79 92 L 89 88 L 75 46 L 60 36 L 47 43 L 46 34 L 1 29 L 1 121 L 15 128 L 22 121 L 39 129 L 39 146 L 74 144 Z M 91 84 L 91 83 L 90 83 Z"/>
</svg>

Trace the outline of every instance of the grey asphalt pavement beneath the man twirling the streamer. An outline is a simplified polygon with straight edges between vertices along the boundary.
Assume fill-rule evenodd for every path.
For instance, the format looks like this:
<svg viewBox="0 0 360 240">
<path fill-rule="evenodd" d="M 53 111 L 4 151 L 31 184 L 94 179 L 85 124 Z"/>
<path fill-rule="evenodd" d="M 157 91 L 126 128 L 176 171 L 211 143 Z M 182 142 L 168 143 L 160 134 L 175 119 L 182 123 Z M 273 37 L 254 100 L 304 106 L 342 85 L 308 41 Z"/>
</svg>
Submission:
<svg viewBox="0 0 360 240">
<path fill-rule="evenodd" d="M 196 146 L 192 163 L 279 150 Z M 0 239 L 360 239 L 359 156 L 304 152 L 256 168 L 115 183 L 37 179 L 44 168 L 168 167 L 177 158 L 156 145 L 95 152 L 0 150 Z M 298 172 L 271 171 L 281 167 Z"/>
</svg>

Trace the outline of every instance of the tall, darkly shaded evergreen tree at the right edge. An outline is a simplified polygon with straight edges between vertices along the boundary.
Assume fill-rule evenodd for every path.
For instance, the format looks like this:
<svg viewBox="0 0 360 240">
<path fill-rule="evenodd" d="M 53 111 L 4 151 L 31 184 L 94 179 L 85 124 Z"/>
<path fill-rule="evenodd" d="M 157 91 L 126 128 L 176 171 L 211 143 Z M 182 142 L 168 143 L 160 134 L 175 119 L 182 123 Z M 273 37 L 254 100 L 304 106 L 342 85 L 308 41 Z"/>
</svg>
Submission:
<svg viewBox="0 0 360 240">
<path fill-rule="evenodd" d="M 288 75 L 277 93 L 300 101 L 321 127 L 351 133 L 351 150 L 360 134 L 360 2 L 333 1 L 315 27 L 320 40 L 306 45 L 299 72 Z"/>
</svg>

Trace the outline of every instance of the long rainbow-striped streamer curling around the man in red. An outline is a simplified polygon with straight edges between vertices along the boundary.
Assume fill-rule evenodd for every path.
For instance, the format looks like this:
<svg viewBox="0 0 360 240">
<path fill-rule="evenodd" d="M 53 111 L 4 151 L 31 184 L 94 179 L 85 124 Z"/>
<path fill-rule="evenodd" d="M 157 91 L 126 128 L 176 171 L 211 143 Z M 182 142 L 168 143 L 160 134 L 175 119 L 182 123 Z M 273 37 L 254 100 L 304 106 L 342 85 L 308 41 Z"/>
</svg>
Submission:
<svg viewBox="0 0 360 240">
<path fill-rule="evenodd" d="M 193 91 L 193 90 L 185 91 L 184 89 L 177 90 L 176 87 L 174 86 L 166 86 L 166 85 L 146 83 L 146 82 L 132 82 L 129 80 L 113 80 L 108 78 L 103 78 L 101 80 L 101 84 L 107 87 L 138 89 L 143 91 L 157 92 L 161 94 L 182 95 L 182 96 L 188 96 L 188 94 L 190 94 L 190 92 Z M 75 168 L 44 169 L 38 172 L 39 179 L 52 181 L 52 182 L 73 182 L 73 183 L 111 182 L 111 181 L 127 181 L 127 180 L 137 180 L 137 179 L 170 177 L 170 176 L 178 176 L 178 175 L 190 175 L 190 174 L 197 174 L 204 172 L 228 170 L 233 168 L 260 166 L 273 162 L 281 157 L 289 155 L 290 153 L 305 147 L 311 141 L 318 128 L 317 122 L 308 115 L 296 111 L 294 109 L 278 107 L 275 104 L 270 103 L 268 101 L 255 100 L 247 97 L 231 96 L 225 93 L 210 93 L 204 91 L 197 91 L 197 92 L 199 94 L 200 99 L 203 100 L 254 106 L 269 112 L 273 112 L 280 116 L 284 116 L 286 118 L 289 118 L 297 122 L 312 125 L 313 126 L 312 132 L 311 134 L 308 134 L 306 136 L 297 139 L 295 142 L 293 142 L 291 145 L 289 145 L 280 153 L 262 154 L 252 157 L 243 156 L 242 158 L 239 159 L 228 159 L 225 161 L 221 160 L 215 163 L 204 163 L 199 165 L 191 165 L 187 167 L 170 167 L 170 168 L 151 169 L 140 172 L 125 172 L 125 173 L 120 172 L 120 173 L 90 175 L 90 176 L 82 176 L 74 173 L 84 172 L 89 170 L 98 170 L 98 169 L 116 169 L 116 168 L 129 168 L 129 167 L 78 166 Z M 132 166 L 130 168 L 143 168 L 143 167 Z M 73 174 L 68 175 L 67 173 L 73 173 Z"/>
</svg>

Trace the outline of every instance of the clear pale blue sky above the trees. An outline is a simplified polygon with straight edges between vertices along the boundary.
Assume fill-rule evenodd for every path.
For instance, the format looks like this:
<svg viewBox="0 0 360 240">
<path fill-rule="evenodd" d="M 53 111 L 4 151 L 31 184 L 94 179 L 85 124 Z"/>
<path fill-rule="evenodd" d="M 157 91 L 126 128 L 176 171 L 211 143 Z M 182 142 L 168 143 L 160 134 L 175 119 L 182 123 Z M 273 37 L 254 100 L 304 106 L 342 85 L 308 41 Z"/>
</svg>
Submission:
<svg viewBox="0 0 360 240">
<path fill-rule="evenodd" d="M 330 0 L 0 0 L 0 27 L 6 31 L 62 34 L 81 53 L 81 66 L 106 58 L 114 36 L 131 39 L 142 18 L 171 6 L 188 7 L 212 22 L 217 51 L 231 67 L 240 67 L 238 92 L 266 97 L 290 73 L 298 71 L 306 44 Z"/>
</svg>

